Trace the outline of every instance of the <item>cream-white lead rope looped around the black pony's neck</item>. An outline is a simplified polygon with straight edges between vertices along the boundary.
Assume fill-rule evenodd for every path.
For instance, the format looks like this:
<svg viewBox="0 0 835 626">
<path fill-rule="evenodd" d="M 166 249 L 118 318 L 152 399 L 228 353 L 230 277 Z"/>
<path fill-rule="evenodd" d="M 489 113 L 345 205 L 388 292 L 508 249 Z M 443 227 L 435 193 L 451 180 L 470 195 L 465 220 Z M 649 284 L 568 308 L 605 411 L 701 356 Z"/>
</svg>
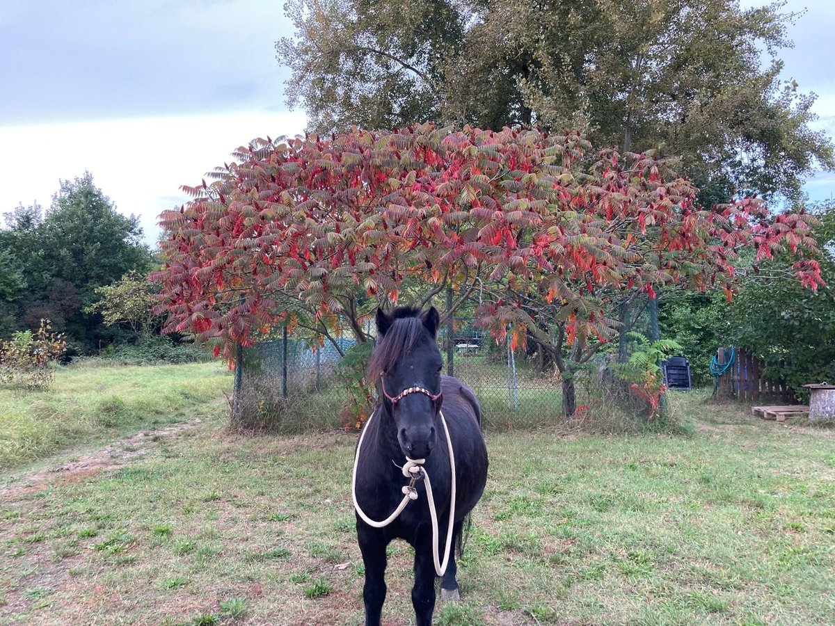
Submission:
<svg viewBox="0 0 835 626">
<path fill-rule="evenodd" d="M 449 519 L 447 523 L 447 547 L 443 551 L 443 563 L 440 563 L 438 560 L 438 512 L 435 510 L 435 498 L 432 496 L 432 482 L 429 482 L 429 474 L 426 469 L 423 468 L 423 463 L 426 462 L 426 459 L 411 459 L 406 457 L 406 465 L 403 466 L 403 476 L 411 478 L 412 480 L 408 485 L 403 486 L 403 499 L 400 504 L 398 504 L 397 508 L 394 509 L 394 512 L 386 517 L 386 519 L 382 520 L 382 522 L 375 522 L 371 517 L 368 517 L 365 512 L 362 511 L 362 508 L 360 508 L 359 502 L 357 502 L 357 465 L 360 460 L 362 439 L 365 437 L 368 430 L 368 424 L 371 423 L 375 415 L 374 413 L 372 413 L 372 416 L 368 418 L 368 422 L 366 422 L 365 427 L 362 428 L 360 441 L 357 443 L 357 455 L 354 457 L 354 472 L 351 481 L 351 496 L 354 499 L 354 509 L 356 509 L 357 515 L 362 517 L 363 522 L 374 528 L 384 528 L 397 519 L 397 516 L 400 515 L 404 508 L 406 508 L 406 505 L 410 500 L 417 500 L 417 491 L 414 488 L 414 481 L 416 480 L 417 473 L 423 473 L 423 480 L 426 481 L 426 497 L 429 504 L 429 517 L 432 517 L 432 556 L 435 560 L 435 573 L 437 573 L 438 576 L 443 576 L 443 573 L 447 571 L 447 565 L 449 563 L 449 549 L 452 548 L 453 545 L 453 523 L 455 521 L 455 455 L 453 453 L 453 440 L 449 437 L 447 421 L 443 417 L 443 411 L 438 412 L 441 416 L 443 432 L 447 435 L 449 470 L 452 472 L 452 485 L 450 487 L 449 495 Z"/>
</svg>

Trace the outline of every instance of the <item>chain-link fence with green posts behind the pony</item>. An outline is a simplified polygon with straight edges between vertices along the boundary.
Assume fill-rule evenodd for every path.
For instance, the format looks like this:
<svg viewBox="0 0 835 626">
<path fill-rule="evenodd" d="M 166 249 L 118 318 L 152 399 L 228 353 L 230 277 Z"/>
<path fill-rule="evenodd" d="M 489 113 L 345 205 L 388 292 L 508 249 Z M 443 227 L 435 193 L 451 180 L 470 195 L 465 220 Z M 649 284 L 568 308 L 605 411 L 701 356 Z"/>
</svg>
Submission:
<svg viewBox="0 0 835 626">
<path fill-rule="evenodd" d="M 504 430 L 558 422 L 561 380 L 553 364 L 538 352 L 499 345 L 473 322 L 455 318 L 444 325 L 438 348 L 444 371 L 470 386 L 481 402 L 484 427 Z M 345 425 L 347 386 L 357 381 L 344 372 L 362 368 L 366 358 L 367 351 L 347 334 L 321 346 L 292 336 L 261 342 L 245 351 L 239 419 L 259 428 L 273 427 L 279 419 L 284 432 Z M 581 389 L 578 393 L 582 404 Z"/>
</svg>

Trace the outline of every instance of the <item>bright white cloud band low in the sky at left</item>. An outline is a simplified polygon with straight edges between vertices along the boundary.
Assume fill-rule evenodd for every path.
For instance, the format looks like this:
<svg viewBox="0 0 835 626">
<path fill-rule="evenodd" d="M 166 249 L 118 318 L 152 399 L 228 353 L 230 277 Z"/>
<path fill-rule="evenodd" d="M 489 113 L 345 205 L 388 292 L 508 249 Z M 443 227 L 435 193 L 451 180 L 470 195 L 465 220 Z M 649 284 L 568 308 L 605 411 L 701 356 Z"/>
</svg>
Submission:
<svg viewBox="0 0 835 626">
<path fill-rule="evenodd" d="M 229 162 L 256 137 L 304 131 L 301 113 L 235 113 L 0 127 L 0 212 L 18 202 L 47 208 L 59 179 L 89 169 L 124 215 L 139 215 L 145 239 L 159 235 L 157 216 L 185 202 L 182 184 Z"/>
</svg>

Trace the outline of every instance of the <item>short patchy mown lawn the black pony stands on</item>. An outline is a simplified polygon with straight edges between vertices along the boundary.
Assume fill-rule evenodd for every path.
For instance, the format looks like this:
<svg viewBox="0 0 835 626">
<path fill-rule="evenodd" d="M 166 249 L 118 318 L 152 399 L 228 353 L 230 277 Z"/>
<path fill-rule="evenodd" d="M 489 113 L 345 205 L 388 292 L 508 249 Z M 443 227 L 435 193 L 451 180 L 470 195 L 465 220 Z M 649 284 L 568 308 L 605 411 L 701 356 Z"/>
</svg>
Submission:
<svg viewBox="0 0 835 626">
<path fill-rule="evenodd" d="M 464 599 L 436 622 L 835 622 L 835 433 L 705 400 L 675 400 L 691 437 L 488 435 Z M 0 623 L 360 623 L 355 437 L 223 426 L 8 485 Z M 411 549 L 391 553 L 386 623 L 413 623 Z"/>
</svg>

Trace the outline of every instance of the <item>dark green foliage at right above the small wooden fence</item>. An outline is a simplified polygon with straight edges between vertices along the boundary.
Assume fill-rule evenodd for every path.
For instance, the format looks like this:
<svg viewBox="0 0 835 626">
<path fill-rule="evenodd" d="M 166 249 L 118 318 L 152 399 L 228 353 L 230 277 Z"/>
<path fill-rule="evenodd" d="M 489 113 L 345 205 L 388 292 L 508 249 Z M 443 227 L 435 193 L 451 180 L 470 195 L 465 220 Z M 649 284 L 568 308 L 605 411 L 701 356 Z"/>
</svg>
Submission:
<svg viewBox="0 0 835 626">
<path fill-rule="evenodd" d="M 805 396 L 809 382 L 835 379 L 835 207 L 812 204 L 808 213 L 818 242 L 815 258 L 825 285 L 816 291 L 792 280 L 792 261 L 777 254 L 768 263 L 745 255 L 737 266 L 738 293 L 731 302 L 709 294 L 661 299 L 664 335 L 679 341 L 694 381 L 706 382 L 719 346 L 741 346 L 767 364 L 765 374 L 786 380 Z"/>
</svg>

